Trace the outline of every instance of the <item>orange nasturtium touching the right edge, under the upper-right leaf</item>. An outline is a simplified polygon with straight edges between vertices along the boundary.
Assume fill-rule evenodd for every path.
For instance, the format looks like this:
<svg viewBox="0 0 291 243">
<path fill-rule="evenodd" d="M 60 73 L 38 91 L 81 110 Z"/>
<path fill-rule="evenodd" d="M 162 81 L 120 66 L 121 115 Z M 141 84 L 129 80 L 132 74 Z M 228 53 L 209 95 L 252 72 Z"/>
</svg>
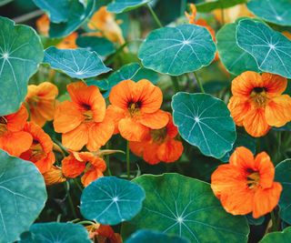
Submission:
<svg viewBox="0 0 291 243">
<path fill-rule="evenodd" d="M 246 71 L 232 82 L 228 108 L 237 126 L 253 137 L 266 135 L 270 127 L 282 127 L 291 120 L 291 98 L 282 95 L 285 77 Z"/>
</svg>

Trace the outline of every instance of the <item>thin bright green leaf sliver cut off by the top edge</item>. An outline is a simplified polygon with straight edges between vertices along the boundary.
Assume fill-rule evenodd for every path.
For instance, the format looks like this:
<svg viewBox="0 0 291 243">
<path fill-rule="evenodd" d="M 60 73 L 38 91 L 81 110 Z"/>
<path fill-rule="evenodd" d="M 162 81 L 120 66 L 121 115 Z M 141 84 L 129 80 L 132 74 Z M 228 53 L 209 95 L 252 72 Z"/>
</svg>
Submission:
<svg viewBox="0 0 291 243">
<path fill-rule="evenodd" d="M 211 0 L 205 3 L 197 4 L 198 12 L 208 13 L 217 8 L 227 8 L 234 5 L 245 4 L 247 0 Z"/>
</svg>

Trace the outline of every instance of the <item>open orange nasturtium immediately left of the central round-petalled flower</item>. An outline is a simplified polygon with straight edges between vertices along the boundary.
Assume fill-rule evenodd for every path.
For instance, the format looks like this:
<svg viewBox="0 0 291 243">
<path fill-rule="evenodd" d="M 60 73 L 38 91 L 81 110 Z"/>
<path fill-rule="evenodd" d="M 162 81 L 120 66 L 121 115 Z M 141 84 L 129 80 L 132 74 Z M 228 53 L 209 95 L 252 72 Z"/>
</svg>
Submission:
<svg viewBox="0 0 291 243">
<path fill-rule="evenodd" d="M 86 145 L 97 151 L 112 137 L 115 125 L 106 115 L 105 99 L 97 86 L 76 82 L 67 86 L 72 101 L 56 106 L 54 127 L 65 147 L 78 151 Z"/>
</svg>

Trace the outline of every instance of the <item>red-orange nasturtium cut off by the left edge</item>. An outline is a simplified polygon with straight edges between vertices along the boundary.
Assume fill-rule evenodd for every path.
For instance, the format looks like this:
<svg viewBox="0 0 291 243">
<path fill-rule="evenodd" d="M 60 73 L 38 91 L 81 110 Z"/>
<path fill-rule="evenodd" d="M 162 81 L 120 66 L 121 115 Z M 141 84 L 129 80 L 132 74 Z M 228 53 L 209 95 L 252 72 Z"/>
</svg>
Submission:
<svg viewBox="0 0 291 243">
<path fill-rule="evenodd" d="M 12 156 L 20 156 L 33 142 L 33 137 L 23 131 L 27 118 L 25 106 L 14 114 L 0 116 L 0 148 Z"/>
</svg>

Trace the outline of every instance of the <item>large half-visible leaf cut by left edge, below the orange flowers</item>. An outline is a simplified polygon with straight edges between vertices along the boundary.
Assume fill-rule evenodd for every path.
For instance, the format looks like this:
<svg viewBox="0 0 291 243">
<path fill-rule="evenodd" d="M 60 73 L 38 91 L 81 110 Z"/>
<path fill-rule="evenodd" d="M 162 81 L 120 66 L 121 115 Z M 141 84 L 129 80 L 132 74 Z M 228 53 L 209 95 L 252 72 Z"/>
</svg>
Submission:
<svg viewBox="0 0 291 243">
<path fill-rule="evenodd" d="M 31 162 L 0 149 L 0 242 L 14 242 L 45 207 L 45 182 Z"/>
</svg>

